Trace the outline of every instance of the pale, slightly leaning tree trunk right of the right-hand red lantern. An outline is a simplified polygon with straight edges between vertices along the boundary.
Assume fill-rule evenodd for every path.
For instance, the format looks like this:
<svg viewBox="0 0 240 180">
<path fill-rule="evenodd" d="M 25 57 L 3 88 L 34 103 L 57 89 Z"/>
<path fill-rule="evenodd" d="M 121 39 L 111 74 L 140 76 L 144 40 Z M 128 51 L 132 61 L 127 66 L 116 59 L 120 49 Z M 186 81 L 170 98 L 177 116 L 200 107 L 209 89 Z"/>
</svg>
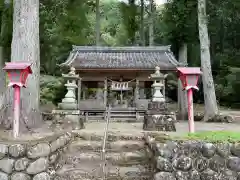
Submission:
<svg viewBox="0 0 240 180">
<path fill-rule="evenodd" d="M 198 0 L 198 28 L 201 50 L 201 68 L 204 90 L 205 113 L 204 120 L 214 117 L 218 113 L 215 87 L 211 70 L 210 40 L 208 37 L 206 0 Z"/>
</svg>

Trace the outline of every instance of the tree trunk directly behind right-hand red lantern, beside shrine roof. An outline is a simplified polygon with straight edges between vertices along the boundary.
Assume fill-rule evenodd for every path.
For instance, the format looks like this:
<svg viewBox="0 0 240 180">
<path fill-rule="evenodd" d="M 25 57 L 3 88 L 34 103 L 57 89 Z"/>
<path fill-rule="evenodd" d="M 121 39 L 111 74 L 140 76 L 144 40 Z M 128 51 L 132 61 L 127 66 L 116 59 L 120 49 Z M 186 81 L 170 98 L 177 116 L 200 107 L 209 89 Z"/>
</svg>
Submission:
<svg viewBox="0 0 240 180">
<path fill-rule="evenodd" d="M 187 44 L 183 44 L 179 49 L 179 62 L 183 64 L 187 64 Z M 179 111 L 179 119 L 187 120 L 187 93 L 183 91 L 183 86 L 181 80 L 178 80 L 178 111 Z"/>
</svg>

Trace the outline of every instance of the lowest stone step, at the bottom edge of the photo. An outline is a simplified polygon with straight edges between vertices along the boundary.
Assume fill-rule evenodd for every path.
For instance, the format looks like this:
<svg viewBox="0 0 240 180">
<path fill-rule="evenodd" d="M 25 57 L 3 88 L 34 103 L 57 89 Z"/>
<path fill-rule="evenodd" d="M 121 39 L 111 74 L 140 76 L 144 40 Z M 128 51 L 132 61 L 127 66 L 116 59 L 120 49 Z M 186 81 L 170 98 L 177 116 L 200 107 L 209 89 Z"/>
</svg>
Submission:
<svg viewBox="0 0 240 180">
<path fill-rule="evenodd" d="M 81 167 L 64 165 L 56 171 L 54 180 L 79 180 L 79 179 L 102 179 L 102 167 L 100 165 L 84 164 Z M 131 167 L 105 166 L 105 177 L 107 180 L 150 180 L 152 170 L 147 166 L 136 165 Z"/>
</svg>

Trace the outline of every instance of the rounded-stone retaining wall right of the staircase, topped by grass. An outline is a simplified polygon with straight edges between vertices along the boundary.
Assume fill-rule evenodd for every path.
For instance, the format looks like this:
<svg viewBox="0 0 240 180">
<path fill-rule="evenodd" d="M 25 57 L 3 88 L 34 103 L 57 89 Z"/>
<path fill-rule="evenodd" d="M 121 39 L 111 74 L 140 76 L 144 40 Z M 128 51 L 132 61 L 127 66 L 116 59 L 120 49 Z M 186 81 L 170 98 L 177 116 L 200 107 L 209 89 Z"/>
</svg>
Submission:
<svg viewBox="0 0 240 180">
<path fill-rule="evenodd" d="M 145 140 L 154 154 L 154 180 L 240 180 L 240 143 Z"/>
</svg>

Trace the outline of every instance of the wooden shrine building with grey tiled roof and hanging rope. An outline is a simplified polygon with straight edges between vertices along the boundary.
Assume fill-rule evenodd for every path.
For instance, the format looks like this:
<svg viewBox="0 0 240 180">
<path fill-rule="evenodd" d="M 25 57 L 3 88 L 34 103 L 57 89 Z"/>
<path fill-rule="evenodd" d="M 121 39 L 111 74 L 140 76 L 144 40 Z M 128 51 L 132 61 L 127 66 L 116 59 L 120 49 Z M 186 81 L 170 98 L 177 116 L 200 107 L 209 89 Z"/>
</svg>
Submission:
<svg viewBox="0 0 240 180">
<path fill-rule="evenodd" d="M 155 67 L 167 73 L 182 65 L 170 46 L 73 46 L 61 66 L 74 67 L 80 76 L 79 109 L 97 112 L 105 111 L 108 105 L 118 110 L 145 111 L 152 95 L 149 75 Z"/>
</svg>

